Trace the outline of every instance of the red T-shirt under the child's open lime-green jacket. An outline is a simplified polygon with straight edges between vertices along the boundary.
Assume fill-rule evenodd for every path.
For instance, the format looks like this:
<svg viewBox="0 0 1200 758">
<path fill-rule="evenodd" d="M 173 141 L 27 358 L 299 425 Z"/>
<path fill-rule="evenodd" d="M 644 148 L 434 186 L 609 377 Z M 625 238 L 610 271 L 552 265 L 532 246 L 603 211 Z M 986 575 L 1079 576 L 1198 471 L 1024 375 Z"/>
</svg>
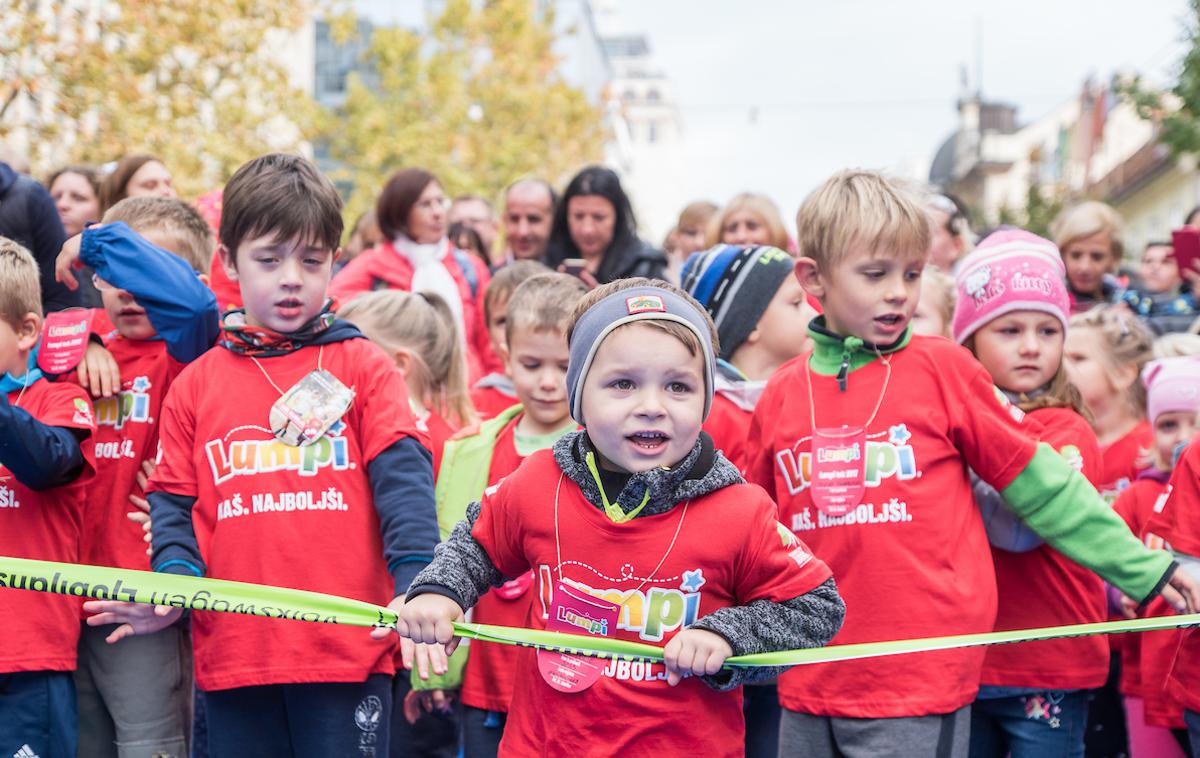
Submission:
<svg viewBox="0 0 1200 758">
<path fill-rule="evenodd" d="M 514 439 L 521 415 L 510 421 L 496 438 L 492 465 L 487 469 L 487 483 L 494 485 L 521 465 Z M 484 595 L 470 609 L 472 620 L 496 626 L 523 626 L 529 615 L 533 592 L 533 576 L 524 573 L 503 588 Z M 523 590 L 523 591 L 522 591 Z M 517 594 L 520 592 L 520 594 Z M 462 681 L 462 702 L 472 708 L 491 711 L 508 711 L 512 699 L 512 680 L 521 661 L 521 648 L 474 640 L 467 658 L 467 672 Z"/>
</svg>

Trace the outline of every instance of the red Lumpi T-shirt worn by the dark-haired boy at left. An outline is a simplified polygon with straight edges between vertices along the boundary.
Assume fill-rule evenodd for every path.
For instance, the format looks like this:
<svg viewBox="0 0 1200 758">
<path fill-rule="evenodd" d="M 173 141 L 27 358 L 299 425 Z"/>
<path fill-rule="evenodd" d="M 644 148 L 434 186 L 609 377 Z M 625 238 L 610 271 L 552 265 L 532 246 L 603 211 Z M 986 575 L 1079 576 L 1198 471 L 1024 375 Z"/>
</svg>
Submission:
<svg viewBox="0 0 1200 758">
<path fill-rule="evenodd" d="M 280 393 L 263 373 L 287 391 L 318 361 L 354 390 L 354 402 L 325 438 L 292 447 L 271 434 Z M 192 524 L 212 578 L 386 604 L 394 588 L 367 464 L 404 437 L 424 437 L 400 373 L 366 339 L 258 362 L 262 369 L 218 348 L 184 369 L 163 405 L 150 491 L 196 498 Z M 197 612 L 192 631 L 202 690 L 395 670 L 395 639 L 372 640 L 361 628 Z"/>
</svg>

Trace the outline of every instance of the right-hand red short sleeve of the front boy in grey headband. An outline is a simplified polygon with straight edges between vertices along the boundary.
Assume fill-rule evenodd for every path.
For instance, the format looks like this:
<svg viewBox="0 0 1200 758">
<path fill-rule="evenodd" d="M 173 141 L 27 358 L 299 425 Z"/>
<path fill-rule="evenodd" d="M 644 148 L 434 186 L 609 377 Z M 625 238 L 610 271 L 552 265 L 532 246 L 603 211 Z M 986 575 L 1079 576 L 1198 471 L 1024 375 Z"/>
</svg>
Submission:
<svg viewBox="0 0 1200 758">
<path fill-rule="evenodd" d="M 767 493 L 744 485 L 751 500 L 751 531 L 734 566 L 738 604 L 756 600 L 784 602 L 810 592 L 833 573 L 799 537 L 775 518 L 776 509 Z"/>
</svg>

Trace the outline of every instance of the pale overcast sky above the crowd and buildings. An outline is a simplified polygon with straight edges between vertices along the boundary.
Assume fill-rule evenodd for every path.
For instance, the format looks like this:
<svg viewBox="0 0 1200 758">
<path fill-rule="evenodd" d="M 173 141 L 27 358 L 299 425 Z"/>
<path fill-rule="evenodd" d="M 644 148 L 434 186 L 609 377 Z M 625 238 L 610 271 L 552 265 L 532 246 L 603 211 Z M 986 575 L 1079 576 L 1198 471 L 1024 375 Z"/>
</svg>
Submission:
<svg viewBox="0 0 1200 758">
<path fill-rule="evenodd" d="M 372 16 L 396 7 L 359 1 Z M 785 217 L 840 168 L 928 168 L 955 128 L 962 65 L 974 89 L 982 58 L 985 97 L 1018 104 L 1024 122 L 1076 96 L 1090 73 L 1165 80 L 1188 10 L 1186 0 L 608 1 L 613 23 L 646 34 L 674 84 L 695 197 L 766 192 Z"/>
</svg>

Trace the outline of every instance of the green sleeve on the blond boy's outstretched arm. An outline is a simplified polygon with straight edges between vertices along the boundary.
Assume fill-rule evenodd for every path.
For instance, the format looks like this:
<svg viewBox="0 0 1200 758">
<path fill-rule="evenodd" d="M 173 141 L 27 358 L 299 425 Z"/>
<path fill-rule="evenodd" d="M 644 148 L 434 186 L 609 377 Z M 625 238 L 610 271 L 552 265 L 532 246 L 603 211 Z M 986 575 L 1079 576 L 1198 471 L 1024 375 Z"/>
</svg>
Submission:
<svg viewBox="0 0 1200 758">
<path fill-rule="evenodd" d="M 1045 443 L 1001 494 L 1056 551 L 1129 597 L 1148 600 L 1171 566 L 1170 554 L 1144 546 L 1091 482 Z"/>
</svg>

